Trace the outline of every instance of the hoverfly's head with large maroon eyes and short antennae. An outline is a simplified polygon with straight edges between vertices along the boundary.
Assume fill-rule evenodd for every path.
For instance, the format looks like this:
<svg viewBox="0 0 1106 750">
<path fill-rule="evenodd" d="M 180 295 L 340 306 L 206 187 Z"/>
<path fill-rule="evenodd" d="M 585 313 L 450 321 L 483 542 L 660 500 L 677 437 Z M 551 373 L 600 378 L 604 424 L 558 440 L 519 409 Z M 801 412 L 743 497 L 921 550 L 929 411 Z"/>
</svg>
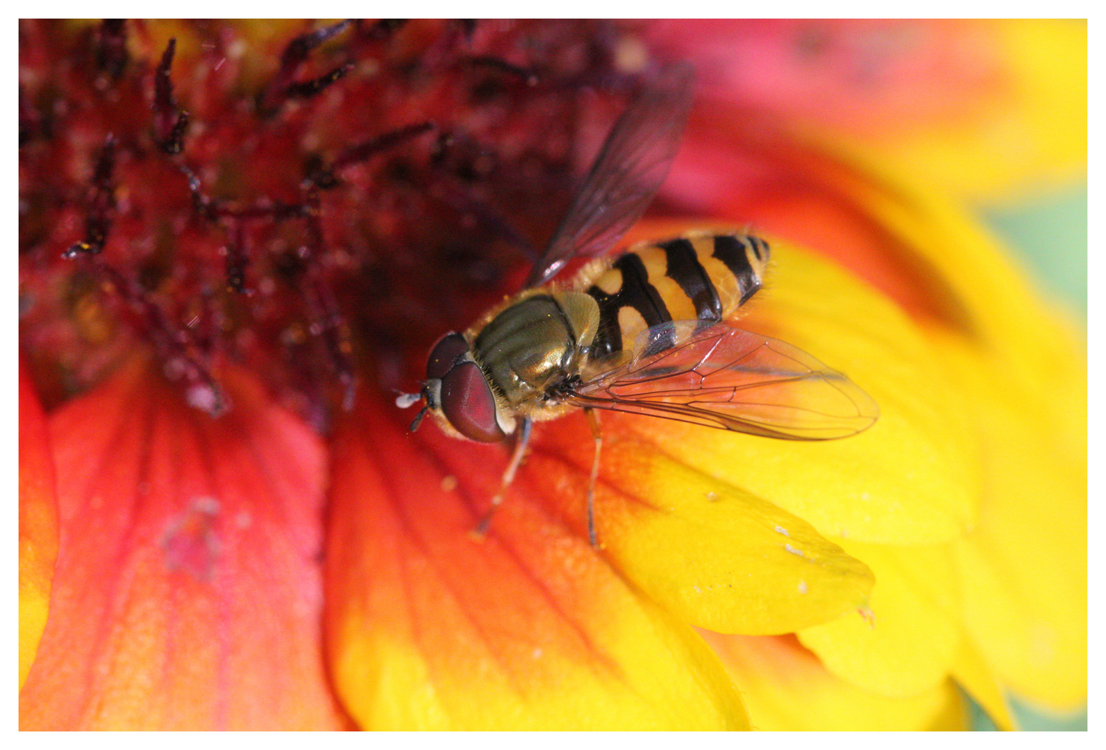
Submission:
<svg viewBox="0 0 1106 750">
<path fill-rule="evenodd" d="M 478 442 L 499 442 L 512 431 L 513 419 L 502 413 L 469 342 L 457 332 L 447 333 L 430 350 L 426 381 L 419 394 L 401 394 L 396 406 L 407 408 L 419 399 L 426 404 L 411 423 L 418 429 L 427 412 L 462 437 Z"/>
</svg>

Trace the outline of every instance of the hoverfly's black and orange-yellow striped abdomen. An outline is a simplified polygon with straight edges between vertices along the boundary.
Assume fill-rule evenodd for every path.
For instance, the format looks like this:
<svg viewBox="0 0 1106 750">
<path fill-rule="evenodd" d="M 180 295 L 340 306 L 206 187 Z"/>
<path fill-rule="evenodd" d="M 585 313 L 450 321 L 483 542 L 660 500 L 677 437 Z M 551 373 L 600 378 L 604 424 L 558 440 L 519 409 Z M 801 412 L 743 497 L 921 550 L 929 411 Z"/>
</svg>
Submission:
<svg viewBox="0 0 1106 750">
<path fill-rule="evenodd" d="M 679 320 L 720 322 L 761 288 L 768 243 L 749 235 L 688 235 L 638 246 L 599 273 L 592 358 L 622 352 L 637 334 Z"/>
</svg>

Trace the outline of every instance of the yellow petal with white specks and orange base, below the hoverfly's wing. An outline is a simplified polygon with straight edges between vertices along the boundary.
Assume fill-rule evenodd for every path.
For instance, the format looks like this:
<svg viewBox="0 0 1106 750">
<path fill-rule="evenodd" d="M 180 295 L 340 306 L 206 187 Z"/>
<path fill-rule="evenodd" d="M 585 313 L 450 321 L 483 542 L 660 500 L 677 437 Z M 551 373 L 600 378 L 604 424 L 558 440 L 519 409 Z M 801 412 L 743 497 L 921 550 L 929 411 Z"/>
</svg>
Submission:
<svg viewBox="0 0 1106 750">
<path fill-rule="evenodd" d="M 565 423 L 556 448 L 535 449 L 535 470 L 550 460 L 546 452 L 571 456 L 581 467 L 591 462 L 586 429 Z M 867 601 L 867 566 L 808 523 L 651 444 L 685 427 L 624 415 L 603 423 L 609 480 L 596 489 L 596 525 L 605 552 L 637 587 L 681 618 L 726 633 L 790 633 Z M 691 445 L 726 437 L 692 429 Z M 583 500 L 587 475 L 577 476 L 578 483 L 562 491 Z"/>
</svg>

